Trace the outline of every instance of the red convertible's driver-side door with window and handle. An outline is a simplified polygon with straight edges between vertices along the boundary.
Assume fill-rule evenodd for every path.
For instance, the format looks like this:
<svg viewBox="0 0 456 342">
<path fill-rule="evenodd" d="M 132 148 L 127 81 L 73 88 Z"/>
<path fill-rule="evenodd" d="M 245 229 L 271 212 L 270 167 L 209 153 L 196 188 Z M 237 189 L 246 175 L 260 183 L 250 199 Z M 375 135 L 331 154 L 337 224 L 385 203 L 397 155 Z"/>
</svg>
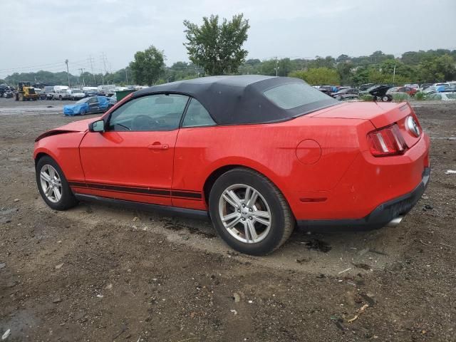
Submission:
<svg viewBox="0 0 456 342">
<path fill-rule="evenodd" d="M 105 132 L 89 132 L 81 142 L 86 184 L 77 191 L 171 205 L 175 142 L 187 101 L 185 95 L 145 95 L 110 113 Z"/>
</svg>

